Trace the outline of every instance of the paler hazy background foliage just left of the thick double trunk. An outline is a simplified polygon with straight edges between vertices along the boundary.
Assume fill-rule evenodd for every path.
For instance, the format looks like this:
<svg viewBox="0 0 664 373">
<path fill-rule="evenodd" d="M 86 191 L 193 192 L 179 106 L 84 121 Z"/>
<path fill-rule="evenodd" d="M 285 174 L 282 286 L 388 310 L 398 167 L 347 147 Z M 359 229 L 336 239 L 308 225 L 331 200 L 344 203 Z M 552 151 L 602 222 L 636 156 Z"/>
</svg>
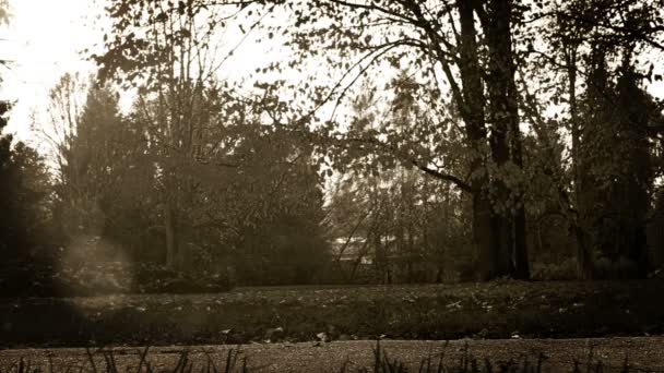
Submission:
<svg viewBox="0 0 664 373">
<path fill-rule="evenodd" d="M 379 177 L 346 175 L 336 182 L 327 225 L 342 280 L 431 282 L 459 278 L 473 251 L 461 196 L 448 184 L 403 168 Z M 369 264 L 366 264 L 369 263 Z"/>
</svg>

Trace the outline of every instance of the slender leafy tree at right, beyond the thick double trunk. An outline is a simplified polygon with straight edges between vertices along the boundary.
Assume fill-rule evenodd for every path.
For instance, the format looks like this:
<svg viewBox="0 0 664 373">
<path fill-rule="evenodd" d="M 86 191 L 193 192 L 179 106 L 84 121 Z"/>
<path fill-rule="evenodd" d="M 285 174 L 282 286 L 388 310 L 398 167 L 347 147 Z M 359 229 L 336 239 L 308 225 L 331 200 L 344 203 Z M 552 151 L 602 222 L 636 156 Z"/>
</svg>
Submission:
<svg viewBox="0 0 664 373">
<path fill-rule="evenodd" d="M 633 4 L 601 0 L 553 2 L 540 14 L 540 20 L 545 21 L 543 23 L 545 26 L 541 29 L 545 31 L 542 35 L 547 45 L 544 51 L 531 47 L 531 52 L 537 56 L 535 69 L 547 70 L 541 83 L 548 84 L 552 81 L 552 71 L 562 72 L 557 85 L 552 84 L 549 88 L 540 91 L 553 93 L 556 101 L 568 115 L 557 118 L 556 121 L 559 129 L 569 131 L 570 177 L 557 177 L 556 183 L 559 185 L 560 203 L 566 206 L 562 213 L 570 221 L 577 237 L 579 276 L 582 278 L 594 276 L 597 219 L 602 219 L 601 216 L 615 215 L 615 210 L 610 213 L 615 207 L 613 202 L 608 203 L 610 198 L 597 205 L 593 201 L 598 200 L 593 196 L 604 193 L 601 190 L 606 183 L 600 182 L 600 179 L 610 180 L 617 177 L 609 169 L 625 164 L 627 158 L 620 157 L 628 156 L 629 152 L 625 153 L 625 149 L 630 147 L 627 145 L 628 142 L 609 140 L 613 136 L 612 131 L 625 133 L 624 130 L 618 131 L 614 128 L 614 124 L 607 127 L 608 123 L 616 122 L 612 116 L 625 117 L 618 113 L 625 109 L 614 105 L 617 96 L 610 92 L 617 87 L 616 76 L 621 75 L 619 71 L 625 69 L 618 69 L 614 63 L 631 60 L 630 69 L 636 69 L 633 65 L 637 61 L 636 56 L 661 49 L 657 47 L 661 33 L 656 27 L 651 27 L 652 24 L 657 23 L 659 17 L 661 10 L 648 1 Z M 649 79 L 652 79 L 652 69 L 648 74 Z M 636 73 L 632 76 L 638 75 Z M 537 74 L 535 73 L 534 76 Z M 561 88 L 562 86 L 565 88 Z M 622 86 L 625 87 L 625 84 Z M 602 109 L 602 103 L 612 104 Z M 650 111 L 650 109 L 644 110 Z M 595 124 L 590 124 L 589 116 L 594 118 L 591 122 Z M 640 125 L 636 125 L 638 127 Z M 641 148 L 648 153 L 649 146 L 645 143 L 642 145 Z M 618 154 L 620 156 L 617 156 Z M 636 156 L 633 153 L 631 155 Z M 641 157 L 632 156 L 629 156 L 631 160 L 628 163 L 637 161 L 636 158 Z M 557 170 L 549 168 L 552 170 L 549 173 L 564 176 L 567 172 L 565 163 L 556 167 Z M 641 178 L 643 185 L 649 184 L 647 179 L 649 177 Z M 644 186 L 644 190 L 648 190 L 648 186 Z M 633 192 L 635 195 L 641 194 L 636 190 Z M 613 237 L 603 233 L 600 236 Z"/>
</svg>

